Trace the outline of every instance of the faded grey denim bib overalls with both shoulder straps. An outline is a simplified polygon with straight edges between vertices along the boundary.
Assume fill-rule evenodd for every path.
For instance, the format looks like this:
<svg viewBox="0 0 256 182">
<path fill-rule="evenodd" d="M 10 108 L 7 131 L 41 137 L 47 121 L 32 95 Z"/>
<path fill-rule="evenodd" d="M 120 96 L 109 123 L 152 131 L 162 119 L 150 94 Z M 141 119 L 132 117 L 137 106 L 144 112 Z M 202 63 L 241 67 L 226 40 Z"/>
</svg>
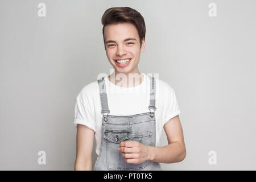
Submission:
<svg viewBox="0 0 256 182">
<path fill-rule="evenodd" d="M 108 98 L 104 77 L 100 78 L 102 128 L 100 155 L 94 170 L 161 170 L 159 163 L 146 160 L 141 164 L 126 163 L 117 148 L 122 141 L 137 141 L 146 146 L 155 146 L 155 78 L 150 77 L 150 105 L 147 113 L 134 115 L 109 115 Z"/>
</svg>

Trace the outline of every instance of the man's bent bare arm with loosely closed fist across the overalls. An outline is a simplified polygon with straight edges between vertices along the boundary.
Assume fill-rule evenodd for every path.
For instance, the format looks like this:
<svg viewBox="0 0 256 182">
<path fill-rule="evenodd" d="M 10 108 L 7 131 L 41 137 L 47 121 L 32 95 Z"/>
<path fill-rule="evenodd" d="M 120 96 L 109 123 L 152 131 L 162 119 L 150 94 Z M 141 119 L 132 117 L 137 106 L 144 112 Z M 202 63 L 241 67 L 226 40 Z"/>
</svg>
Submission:
<svg viewBox="0 0 256 182">
<path fill-rule="evenodd" d="M 164 147 L 144 146 L 139 142 L 121 142 L 118 151 L 122 151 L 122 156 L 127 163 L 142 163 L 145 160 L 152 160 L 159 163 L 181 162 L 186 155 L 183 131 L 180 124 L 179 115 L 171 118 L 164 125 L 168 145 Z"/>
</svg>

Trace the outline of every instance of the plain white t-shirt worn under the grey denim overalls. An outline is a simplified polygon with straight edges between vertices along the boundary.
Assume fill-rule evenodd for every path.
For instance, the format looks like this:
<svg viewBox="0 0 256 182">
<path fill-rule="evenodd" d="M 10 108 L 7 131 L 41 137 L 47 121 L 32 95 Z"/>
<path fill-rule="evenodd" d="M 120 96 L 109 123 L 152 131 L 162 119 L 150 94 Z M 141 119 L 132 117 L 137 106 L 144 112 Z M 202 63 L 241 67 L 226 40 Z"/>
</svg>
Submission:
<svg viewBox="0 0 256 182">
<path fill-rule="evenodd" d="M 109 81 L 108 76 L 104 78 L 110 110 L 109 115 L 134 115 L 150 111 L 148 109 L 150 105 L 150 77 L 144 73 L 142 74 L 144 75 L 142 83 L 134 87 L 118 86 Z M 159 146 L 164 124 L 180 114 L 181 111 L 174 89 L 159 78 L 155 78 L 155 81 L 156 146 Z M 73 125 L 77 127 L 77 124 L 85 125 L 94 130 L 96 154 L 99 155 L 102 114 L 97 80 L 85 85 L 76 97 Z"/>
</svg>

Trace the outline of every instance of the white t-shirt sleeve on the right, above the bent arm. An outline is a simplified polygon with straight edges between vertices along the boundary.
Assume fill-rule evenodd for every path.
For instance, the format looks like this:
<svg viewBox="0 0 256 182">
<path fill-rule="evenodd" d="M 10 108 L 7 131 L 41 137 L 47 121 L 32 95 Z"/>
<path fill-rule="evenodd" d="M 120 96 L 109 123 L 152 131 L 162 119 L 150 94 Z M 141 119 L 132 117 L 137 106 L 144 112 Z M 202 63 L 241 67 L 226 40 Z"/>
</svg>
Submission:
<svg viewBox="0 0 256 182">
<path fill-rule="evenodd" d="M 168 85 L 167 100 L 164 106 L 164 124 L 170 121 L 171 118 L 181 113 L 174 89 Z"/>
</svg>

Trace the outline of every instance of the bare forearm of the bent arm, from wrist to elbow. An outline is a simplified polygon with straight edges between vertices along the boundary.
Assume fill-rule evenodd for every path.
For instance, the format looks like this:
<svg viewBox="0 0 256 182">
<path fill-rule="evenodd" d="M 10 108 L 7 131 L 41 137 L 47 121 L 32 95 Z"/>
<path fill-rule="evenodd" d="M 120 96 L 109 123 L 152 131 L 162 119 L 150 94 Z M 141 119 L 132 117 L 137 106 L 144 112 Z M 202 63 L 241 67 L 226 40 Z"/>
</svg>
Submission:
<svg viewBox="0 0 256 182">
<path fill-rule="evenodd" d="M 184 144 L 173 142 L 164 147 L 148 146 L 148 159 L 159 163 L 181 162 L 186 155 Z"/>
</svg>

